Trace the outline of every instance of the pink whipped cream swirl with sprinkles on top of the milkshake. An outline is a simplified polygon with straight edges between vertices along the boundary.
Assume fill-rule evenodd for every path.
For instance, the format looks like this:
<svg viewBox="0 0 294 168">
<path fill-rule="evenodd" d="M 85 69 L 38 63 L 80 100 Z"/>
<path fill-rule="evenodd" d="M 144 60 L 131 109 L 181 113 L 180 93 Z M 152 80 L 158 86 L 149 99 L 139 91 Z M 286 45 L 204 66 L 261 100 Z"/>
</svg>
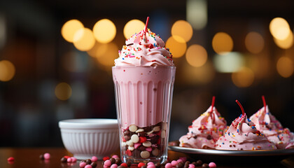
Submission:
<svg viewBox="0 0 294 168">
<path fill-rule="evenodd" d="M 174 66 L 165 42 L 150 29 L 132 35 L 125 44 L 114 61 L 116 66 Z"/>
</svg>

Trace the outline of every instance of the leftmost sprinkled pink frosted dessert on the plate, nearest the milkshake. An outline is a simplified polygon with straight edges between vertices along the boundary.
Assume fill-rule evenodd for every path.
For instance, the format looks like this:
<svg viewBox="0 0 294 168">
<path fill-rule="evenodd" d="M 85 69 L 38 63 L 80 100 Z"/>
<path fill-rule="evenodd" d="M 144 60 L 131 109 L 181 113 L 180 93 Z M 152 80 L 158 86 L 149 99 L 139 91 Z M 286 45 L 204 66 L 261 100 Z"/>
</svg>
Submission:
<svg viewBox="0 0 294 168">
<path fill-rule="evenodd" d="M 213 98 L 214 104 L 214 98 Z M 188 133 L 179 141 L 180 146 L 188 148 L 215 148 L 216 140 L 223 136 L 227 122 L 221 117 L 214 105 L 193 121 Z"/>
</svg>

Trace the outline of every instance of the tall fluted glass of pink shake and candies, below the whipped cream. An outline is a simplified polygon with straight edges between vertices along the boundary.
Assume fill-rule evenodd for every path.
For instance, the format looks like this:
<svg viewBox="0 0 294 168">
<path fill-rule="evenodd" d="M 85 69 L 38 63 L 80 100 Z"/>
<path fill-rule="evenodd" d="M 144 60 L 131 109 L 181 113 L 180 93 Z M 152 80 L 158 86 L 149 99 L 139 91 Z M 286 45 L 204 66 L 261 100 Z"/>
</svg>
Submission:
<svg viewBox="0 0 294 168">
<path fill-rule="evenodd" d="M 175 66 L 113 66 L 124 162 L 165 162 Z"/>
</svg>

